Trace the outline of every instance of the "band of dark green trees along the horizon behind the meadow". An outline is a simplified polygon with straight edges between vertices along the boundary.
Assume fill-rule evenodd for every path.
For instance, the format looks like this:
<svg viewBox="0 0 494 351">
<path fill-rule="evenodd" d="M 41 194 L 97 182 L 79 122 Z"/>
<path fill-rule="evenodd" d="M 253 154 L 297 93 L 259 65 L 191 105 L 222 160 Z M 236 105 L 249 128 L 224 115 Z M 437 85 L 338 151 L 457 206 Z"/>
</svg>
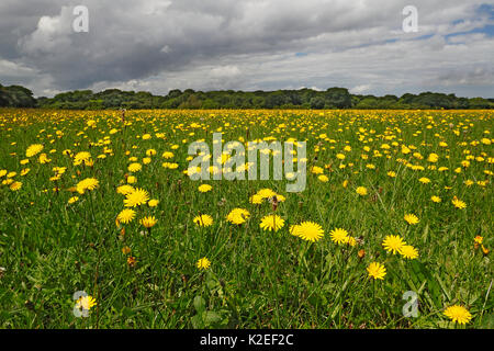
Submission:
<svg viewBox="0 0 494 351">
<path fill-rule="evenodd" d="M 454 94 L 423 92 L 396 95 L 350 94 L 345 88 L 276 91 L 181 91 L 167 95 L 146 91 L 106 89 L 101 92 L 76 90 L 53 98 L 33 98 L 31 90 L 0 84 L 0 106 L 70 110 L 105 109 L 493 109 L 494 99 L 458 98 Z"/>
</svg>

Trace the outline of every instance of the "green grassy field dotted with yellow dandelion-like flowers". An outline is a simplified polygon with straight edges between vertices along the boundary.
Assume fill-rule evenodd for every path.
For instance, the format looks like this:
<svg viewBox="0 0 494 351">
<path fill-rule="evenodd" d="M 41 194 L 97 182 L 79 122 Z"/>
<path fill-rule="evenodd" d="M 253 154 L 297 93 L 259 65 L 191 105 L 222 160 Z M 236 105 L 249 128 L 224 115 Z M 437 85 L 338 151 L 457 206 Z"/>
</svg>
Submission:
<svg viewBox="0 0 494 351">
<path fill-rule="evenodd" d="M 1 110 L 0 327 L 494 328 L 493 117 Z M 214 132 L 305 190 L 189 179 Z"/>
</svg>

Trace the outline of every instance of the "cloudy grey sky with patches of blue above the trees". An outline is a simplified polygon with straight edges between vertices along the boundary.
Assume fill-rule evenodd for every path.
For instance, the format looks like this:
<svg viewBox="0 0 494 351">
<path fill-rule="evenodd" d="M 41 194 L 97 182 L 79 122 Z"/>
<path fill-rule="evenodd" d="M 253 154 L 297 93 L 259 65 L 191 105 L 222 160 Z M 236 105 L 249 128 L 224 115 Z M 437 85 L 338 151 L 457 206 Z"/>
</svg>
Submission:
<svg viewBox="0 0 494 351">
<path fill-rule="evenodd" d="M 88 32 L 74 9 L 88 9 Z M 406 5 L 417 10 L 417 31 Z M 494 0 L 1 0 L 0 83 L 494 98 Z"/>
</svg>

